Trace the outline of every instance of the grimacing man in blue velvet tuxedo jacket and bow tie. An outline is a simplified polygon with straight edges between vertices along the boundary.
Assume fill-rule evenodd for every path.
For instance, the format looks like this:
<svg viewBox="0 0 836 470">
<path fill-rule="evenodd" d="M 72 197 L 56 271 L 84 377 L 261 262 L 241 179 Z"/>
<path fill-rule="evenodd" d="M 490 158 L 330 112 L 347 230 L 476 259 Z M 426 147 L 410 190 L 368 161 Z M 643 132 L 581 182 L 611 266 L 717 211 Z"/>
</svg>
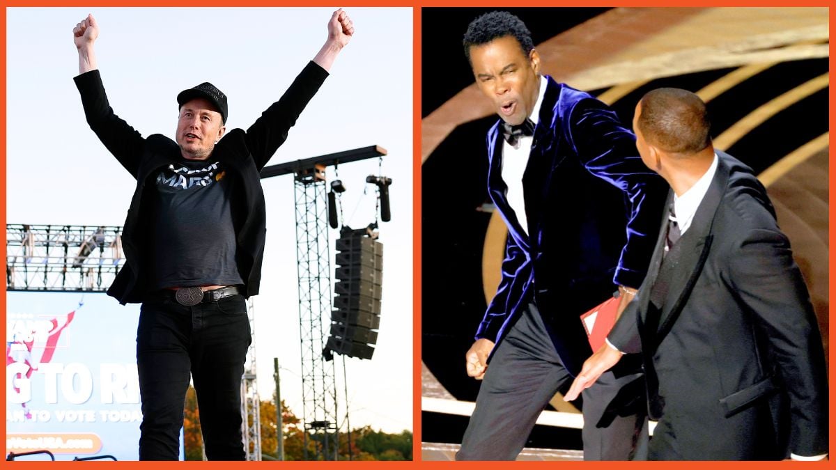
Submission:
<svg viewBox="0 0 836 470">
<path fill-rule="evenodd" d="M 614 284 L 626 304 L 644 278 L 665 189 L 612 110 L 540 74 L 519 18 L 477 18 L 464 48 L 501 118 L 487 135 L 488 191 L 509 234 L 497 294 L 466 354 L 468 375 L 484 381 L 456 458 L 513 460 L 592 352 L 579 315 Z M 637 378 L 609 373 L 584 395 L 585 459 L 642 452 L 644 413 L 604 413 Z"/>
</svg>

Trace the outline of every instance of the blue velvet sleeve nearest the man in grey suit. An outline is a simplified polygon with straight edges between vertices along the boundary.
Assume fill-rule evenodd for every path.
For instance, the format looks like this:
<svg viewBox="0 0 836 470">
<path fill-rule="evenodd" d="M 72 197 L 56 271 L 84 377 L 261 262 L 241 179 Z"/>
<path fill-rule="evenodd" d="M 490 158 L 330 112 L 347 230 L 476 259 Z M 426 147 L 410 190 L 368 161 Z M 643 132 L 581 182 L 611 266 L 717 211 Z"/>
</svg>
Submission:
<svg viewBox="0 0 836 470">
<path fill-rule="evenodd" d="M 635 135 L 607 105 L 580 100 L 569 115 L 568 140 L 587 171 L 618 187 L 627 201 L 627 243 L 615 270 L 615 284 L 638 288 L 659 233 L 659 214 L 668 186 L 641 161 Z"/>
</svg>

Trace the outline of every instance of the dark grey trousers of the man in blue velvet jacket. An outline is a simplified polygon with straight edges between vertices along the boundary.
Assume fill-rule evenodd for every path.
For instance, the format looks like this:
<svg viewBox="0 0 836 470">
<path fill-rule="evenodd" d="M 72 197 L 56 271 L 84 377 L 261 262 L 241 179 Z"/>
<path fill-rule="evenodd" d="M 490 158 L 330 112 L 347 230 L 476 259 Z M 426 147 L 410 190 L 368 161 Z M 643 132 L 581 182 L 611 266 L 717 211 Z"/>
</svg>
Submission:
<svg viewBox="0 0 836 470">
<path fill-rule="evenodd" d="M 515 460 L 540 411 L 572 380 L 537 307 L 529 305 L 487 367 L 456 460 Z M 644 413 L 616 416 L 608 427 L 596 426 L 619 389 L 635 380 L 640 374 L 616 379 L 606 372 L 583 392 L 584 460 L 646 458 L 649 437 Z"/>
</svg>

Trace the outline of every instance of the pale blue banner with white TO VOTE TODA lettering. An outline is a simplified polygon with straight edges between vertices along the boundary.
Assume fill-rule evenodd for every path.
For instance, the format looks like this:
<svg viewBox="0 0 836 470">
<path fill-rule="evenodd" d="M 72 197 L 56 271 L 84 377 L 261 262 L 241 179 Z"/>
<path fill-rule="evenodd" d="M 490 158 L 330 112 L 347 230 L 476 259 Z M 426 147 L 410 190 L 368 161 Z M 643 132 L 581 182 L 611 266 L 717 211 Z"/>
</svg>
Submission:
<svg viewBox="0 0 836 470">
<path fill-rule="evenodd" d="M 7 454 L 136 460 L 139 305 L 104 294 L 9 292 L 7 312 Z"/>
</svg>

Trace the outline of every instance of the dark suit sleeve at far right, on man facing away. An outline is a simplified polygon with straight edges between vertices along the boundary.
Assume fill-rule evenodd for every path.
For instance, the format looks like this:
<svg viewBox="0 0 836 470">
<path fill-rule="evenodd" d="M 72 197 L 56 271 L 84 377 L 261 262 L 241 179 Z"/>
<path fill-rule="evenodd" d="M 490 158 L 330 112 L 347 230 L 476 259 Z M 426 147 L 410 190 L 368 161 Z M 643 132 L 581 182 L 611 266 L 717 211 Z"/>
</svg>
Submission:
<svg viewBox="0 0 836 470">
<path fill-rule="evenodd" d="M 786 236 L 754 229 L 728 258 L 732 291 L 768 340 L 790 401 L 790 450 L 828 452 L 827 370 L 818 322 Z"/>
</svg>

